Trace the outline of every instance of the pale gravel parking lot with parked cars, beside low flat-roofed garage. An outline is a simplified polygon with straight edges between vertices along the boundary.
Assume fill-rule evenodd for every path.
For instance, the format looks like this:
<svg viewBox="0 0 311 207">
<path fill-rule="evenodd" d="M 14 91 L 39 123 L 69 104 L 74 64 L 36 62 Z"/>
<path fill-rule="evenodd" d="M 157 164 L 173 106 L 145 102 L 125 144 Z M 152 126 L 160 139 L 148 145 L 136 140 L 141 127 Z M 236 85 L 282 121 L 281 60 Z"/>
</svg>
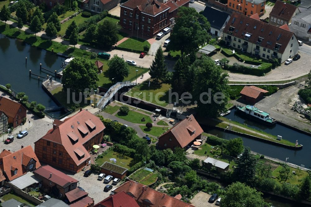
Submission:
<svg viewBox="0 0 311 207">
<path fill-rule="evenodd" d="M 97 180 L 99 174 L 100 173 L 92 173 L 89 177 L 84 177 L 84 172 L 80 171 L 75 175 L 68 175 L 77 179 L 79 181 L 78 186 L 88 192 L 89 196 L 94 199 L 94 203 L 97 204 L 110 195 L 111 190 L 104 192 L 104 187 L 108 184 L 112 185 L 112 181 L 110 183 L 104 183 L 104 180 Z M 119 182 L 116 186 L 112 185 L 112 190 L 120 186 L 120 183 L 121 182 Z"/>
</svg>

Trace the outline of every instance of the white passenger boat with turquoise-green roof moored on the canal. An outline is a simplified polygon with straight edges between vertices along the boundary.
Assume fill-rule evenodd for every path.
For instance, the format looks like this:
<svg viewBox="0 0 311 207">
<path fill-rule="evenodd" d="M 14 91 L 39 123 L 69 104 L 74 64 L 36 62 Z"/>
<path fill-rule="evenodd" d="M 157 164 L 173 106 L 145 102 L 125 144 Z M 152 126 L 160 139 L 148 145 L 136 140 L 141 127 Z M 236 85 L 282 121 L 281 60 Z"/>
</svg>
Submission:
<svg viewBox="0 0 311 207">
<path fill-rule="evenodd" d="M 239 106 L 237 105 L 235 107 L 237 109 L 237 112 L 240 112 L 247 117 L 254 118 L 256 121 L 265 123 L 267 125 L 274 125 L 276 124 L 276 119 L 270 117 L 269 113 L 259 110 L 258 108 L 247 105 L 247 106 Z"/>
</svg>

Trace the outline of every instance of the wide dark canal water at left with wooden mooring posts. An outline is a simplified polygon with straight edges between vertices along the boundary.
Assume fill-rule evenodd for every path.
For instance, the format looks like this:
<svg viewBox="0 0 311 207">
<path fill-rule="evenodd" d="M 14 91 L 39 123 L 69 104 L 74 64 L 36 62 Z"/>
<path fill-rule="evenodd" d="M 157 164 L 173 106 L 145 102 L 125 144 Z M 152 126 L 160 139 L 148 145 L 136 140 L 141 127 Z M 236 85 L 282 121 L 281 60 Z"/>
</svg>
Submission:
<svg viewBox="0 0 311 207">
<path fill-rule="evenodd" d="M 0 84 L 10 83 L 12 89 L 25 92 L 30 101 L 37 101 L 45 107 L 56 106 L 41 87 L 43 78 L 40 78 L 38 83 L 38 76 L 29 77 L 29 70 L 43 77 L 53 76 L 48 71 L 40 72 L 40 63 L 42 67 L 55 71 L 60 69 L 63 61 L 64 58 L 49 51 L 31 47 L 20 39 L 10 39 L 0 34 Z M 61 112 L 53 112 L 55 116 L 58 116 L 58 113 Z"/>
</svg>

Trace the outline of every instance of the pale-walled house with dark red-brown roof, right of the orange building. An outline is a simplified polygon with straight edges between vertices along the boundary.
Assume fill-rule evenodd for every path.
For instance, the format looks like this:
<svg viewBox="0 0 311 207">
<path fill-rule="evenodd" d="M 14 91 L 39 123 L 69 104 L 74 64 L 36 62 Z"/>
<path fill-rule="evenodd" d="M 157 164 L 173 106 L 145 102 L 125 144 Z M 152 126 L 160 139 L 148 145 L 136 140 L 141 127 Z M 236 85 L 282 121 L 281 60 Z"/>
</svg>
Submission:
<svg viewBox="0 0 311 207">
<path fill-rule="evenodd" d="M 290 25 L 291 18 L 299 14 L 299 8 L 277 0 L 269 15 L 269 24 L 280 27 L 284 24 Z M 295 22 L 296 24 L 296 22 Z"/>
</svg>

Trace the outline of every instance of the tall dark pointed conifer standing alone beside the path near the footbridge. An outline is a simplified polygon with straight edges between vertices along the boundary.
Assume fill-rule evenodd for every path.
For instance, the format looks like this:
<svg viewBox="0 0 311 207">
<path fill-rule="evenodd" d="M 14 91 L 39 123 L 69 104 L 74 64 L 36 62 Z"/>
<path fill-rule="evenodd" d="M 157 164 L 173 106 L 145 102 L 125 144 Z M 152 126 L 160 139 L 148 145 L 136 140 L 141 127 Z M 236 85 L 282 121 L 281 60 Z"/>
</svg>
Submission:
<svg viewBox="0 0 311 207">
<path fill-rule="evenodd" d="M 166 64 L 164 62 L 164 55 L 161 46 L 156 51 L 156 57 L 152 61 L 149 74 L 152 79 L 159 83 L 159 80 L 164 80 L 167 73 Z"/>
</svg>

